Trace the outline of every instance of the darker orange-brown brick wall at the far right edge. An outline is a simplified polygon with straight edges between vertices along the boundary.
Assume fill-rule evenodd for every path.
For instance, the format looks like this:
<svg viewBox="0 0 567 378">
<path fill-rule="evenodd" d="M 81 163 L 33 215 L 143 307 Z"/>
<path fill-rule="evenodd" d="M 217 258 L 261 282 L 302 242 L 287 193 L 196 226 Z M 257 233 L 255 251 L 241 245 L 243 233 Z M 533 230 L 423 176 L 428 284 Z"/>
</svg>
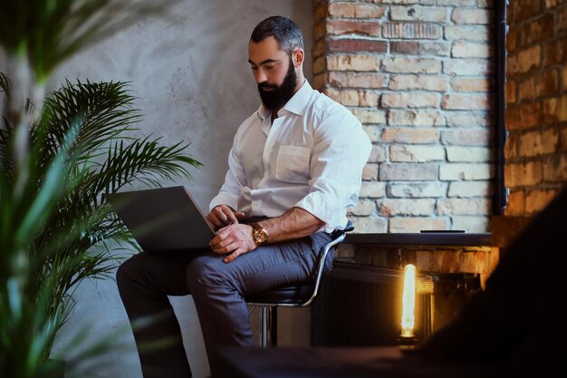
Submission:
<svg viewBox="0 0 567 378">
<path fill-rule="evenodd" d="M 510 3 L 505 214 L 530 216 L 567 181 L 567 1 Z"/>
</svg>

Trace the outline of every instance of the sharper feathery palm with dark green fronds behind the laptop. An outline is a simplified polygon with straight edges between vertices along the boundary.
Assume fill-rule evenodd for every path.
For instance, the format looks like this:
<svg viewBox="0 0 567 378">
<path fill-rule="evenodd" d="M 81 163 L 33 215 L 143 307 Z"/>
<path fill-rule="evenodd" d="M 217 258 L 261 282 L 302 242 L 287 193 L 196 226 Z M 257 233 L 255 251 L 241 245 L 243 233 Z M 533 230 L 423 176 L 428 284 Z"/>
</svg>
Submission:
<svg viewBox="0 0 567 378">
<path fill-rule="evenodd" d="M 0 89 L 10 95 L 10 82 L 2 73 Z M 43 209 L 43 218 L 29 213 L 0 213 L 0 232 L 13 233 L 5 226 L 21 227 L 17 222 L 20 218 L 42 225 L 34 231 L 33 242 L 24 246 L 31 264 L 24 281 L 30 297 L 42 302 L 42 317 L 53 331 L 43 342 L 43 354 L 38 356 L 41 361 L 49 356 L 54 334 L 71 314 L 77 284 L 84 278 L 108 276 L 116 267 L 116 246 L 138 247 L 105 202 L 105 195 L 137 183 L 157 187 L 162 181 L 188 179 L 188 168 L 201 166 L 184 152 L 188 143 L 162 146 L 159 138 L 134 138 L 138 131 L 135 125 L 140 121 L 139 111 L 132 107 L 134 101 L 125 82 L 65 82 L 46 97 L 42 117 L 30 128 L 28 161 L 33 166 L 27 171 L 32 176 L 28 177 L 25 195 L 19 196 L 21 208 L 33 210 L 33 204 L 25 203 L 25 198 L 41 198 L 45 183 L 62 180 L 67 185 L 53 189 L 50 200 L 46 200 L 52 210 Z M 28 102 L 27 110 L 32 111 L 33 106 Z M 5 191 L 17 189 L 21 177 L 18 161 L 10 153 L 18 140 L 17 131 L 7 119 L 0 129 L 0 182 Z M 58 179 L 53 178 L 54 166 L 59 167 Z M 4 192 L 1 198 L 5 199 Z M 24 234 L 29 237 L 30 232 Z M 5 246 L 3 240 L 0 238 L 0 245 Z"/>
</svg>

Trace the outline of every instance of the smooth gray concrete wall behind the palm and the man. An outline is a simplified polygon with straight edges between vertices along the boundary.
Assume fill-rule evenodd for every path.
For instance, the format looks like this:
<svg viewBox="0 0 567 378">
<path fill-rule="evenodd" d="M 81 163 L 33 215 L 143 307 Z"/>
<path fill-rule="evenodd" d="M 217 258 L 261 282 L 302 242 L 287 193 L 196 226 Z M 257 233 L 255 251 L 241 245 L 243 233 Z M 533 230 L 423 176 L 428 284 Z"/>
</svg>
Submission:
<svg viewBox="0 0 567 378">
<path fill-rule="evenodd" d="M 286 15 L 304 32 L 312 76 L 312 2 L 310 0 L 193 0 L 175 9 L 173 20 L 144 20 L 66 63 L 54 75 L 64 79 L 131 82 L 144 116 L 139 135 L 154 133 L 163 143 L 190 141 L 189 152 L 204 163 L 186 185 L 207 211 L 224 179 L 226 155 L 236 128 L 259 105 L 248 60 L 249 36 L 269 15 Z M 118 252 L 117 252 L 118 253 Z M 128 255 L 128 253 L 126 253 Z M 85 281 L 78 287 L 72 318 L 58 334 L 55 352 L 85 327 L 93 341 L 107 332 L 119 334 L 126 350 L 117 349 L 89 368 L 95 377 L 139 378 L 138 356 L 127 317 L 112 280 Z M 209 374 L 207 356 L 190 296 L 172 298 L 184 331 L 187 356 L 195 377 Z M 64 352 L 67 353 L 67 352 Z M 86 376 L 86 375 L 84 375 Z"/>
</svg>

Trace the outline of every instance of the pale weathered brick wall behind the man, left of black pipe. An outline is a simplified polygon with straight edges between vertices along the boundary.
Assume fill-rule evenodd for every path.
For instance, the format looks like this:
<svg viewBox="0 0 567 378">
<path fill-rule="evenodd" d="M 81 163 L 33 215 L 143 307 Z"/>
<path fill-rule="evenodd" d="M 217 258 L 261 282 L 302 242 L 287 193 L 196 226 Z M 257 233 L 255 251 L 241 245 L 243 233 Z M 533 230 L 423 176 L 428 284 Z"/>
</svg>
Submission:
<svg viewBox="0 0 567 378">
<path fill-rule="evenodd" d="M 374 144 L 356 232 L 485 232 L 494 177 L 490 0 L 313 0 L 313 86 Z"/>
</svg>

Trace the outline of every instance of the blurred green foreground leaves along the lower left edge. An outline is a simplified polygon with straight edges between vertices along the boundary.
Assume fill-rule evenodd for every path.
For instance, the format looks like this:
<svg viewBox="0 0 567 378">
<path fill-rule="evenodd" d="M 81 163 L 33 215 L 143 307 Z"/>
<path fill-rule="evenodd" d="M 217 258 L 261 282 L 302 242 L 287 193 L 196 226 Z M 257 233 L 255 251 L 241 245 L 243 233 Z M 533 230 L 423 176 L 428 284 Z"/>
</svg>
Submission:
<svg viewBox="0 0 567 378">
<path fill-rule="evenodd" d="M 29 252 L 34 236 L 41 233 L 54 204 L 68 188 L 66 174 L 74 157 L 64 146 L 40 183 L 33 154 L 17 154 L 18 144 L 14 139 L 1 147 L 3 153 L 14 152 L 18 157 L 10 167 L 18 184 L 0 175 L 0 372 L 15 378 L 49 377 L 53 369 L 42 371 L 44 355 L 65 310 L 61 307 L 52 316 L 47 314 L 55 280 L 48 277 L 40 284 L 35 275 L 43 270 L 41 258 Z"/>
</svg>

